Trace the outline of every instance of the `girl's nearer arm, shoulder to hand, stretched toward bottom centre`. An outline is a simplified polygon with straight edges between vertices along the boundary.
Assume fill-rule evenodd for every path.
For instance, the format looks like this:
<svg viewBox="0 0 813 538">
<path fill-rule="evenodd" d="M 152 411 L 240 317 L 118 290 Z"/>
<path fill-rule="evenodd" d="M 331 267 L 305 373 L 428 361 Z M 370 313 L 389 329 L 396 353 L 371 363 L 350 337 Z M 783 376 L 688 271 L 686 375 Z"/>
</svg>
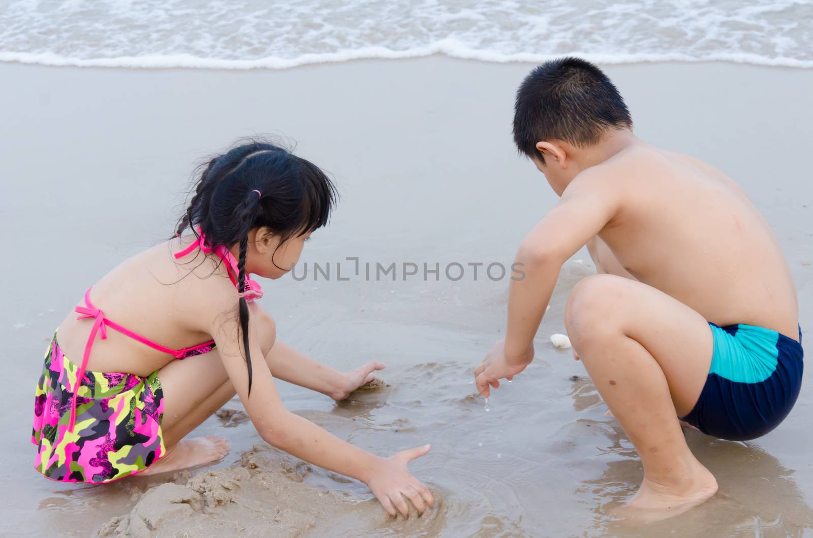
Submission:
<svg viewBox="0 0 813 538">
<path fill-rule="evenodd" d="M 230 310 L 233 308 L 231 306 Z M 216 307 L 215 311 L 223 312 L 224 308 Z M 306 462 L 362 481 L 390 515 L 396 515 L 398 509 L 404 517 L 408 516 L 406 499 L 412 501 L 419 513 L 424 512 L 426 505 L 434 505 L 432 493 L 407 470 L 407 463 L 427 453 L 429 445 L 405 450 L 390 458 L 380 458 L 338 439 L 307 419 L 285 410 L 263 358 L 253 323 L 249 323 L 252 365 L 250 393 L 246 359 L 238 343 L 242 337 L 237 315 L 218 316 L 211 334 L 215 335 L 228 377 L 237 389 L 251 422 L 269 444 Z"/>
</svg>

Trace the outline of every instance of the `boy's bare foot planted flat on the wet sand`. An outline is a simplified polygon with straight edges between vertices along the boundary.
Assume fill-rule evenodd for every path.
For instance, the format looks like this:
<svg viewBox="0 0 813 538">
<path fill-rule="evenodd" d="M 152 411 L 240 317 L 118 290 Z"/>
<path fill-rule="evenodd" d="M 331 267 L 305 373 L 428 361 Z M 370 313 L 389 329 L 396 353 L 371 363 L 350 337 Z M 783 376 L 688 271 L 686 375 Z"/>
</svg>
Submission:
<svg viewBox="0 0 813 538">
<path fill-rule="evenodd" d="M 717 480 L 714 475 L 698 464 L 693 479 L 684 486 L 665 486 L 645 478 L 635 497 L 626 505 L 611 510 L 611 515 L 632 525 L 652 523 L 702 505 L 716 492 Z"/>
</svg>

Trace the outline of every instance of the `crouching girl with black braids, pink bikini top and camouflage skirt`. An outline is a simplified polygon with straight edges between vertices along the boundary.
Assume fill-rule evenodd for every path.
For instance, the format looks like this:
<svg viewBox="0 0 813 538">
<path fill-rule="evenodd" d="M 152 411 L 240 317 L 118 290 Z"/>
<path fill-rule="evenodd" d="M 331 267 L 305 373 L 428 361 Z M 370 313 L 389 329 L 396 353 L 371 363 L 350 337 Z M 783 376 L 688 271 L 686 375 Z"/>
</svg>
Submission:
<svg viewBox="0 0 813 538">
<path fill-rule="evenodd" d="M 276 145 L 212 158 L 176 235 L 115 267 L 54 334 L 34 408 L 37 471 L 101 484 L 215 462 L 226 440 L 185 436 L 237 392 L 264 440 L 363 481 L 389 514 L 406 517 L 406 499 L 419 513 L 433 505 L 406 468 L 428 445 L 379 458 L 289 413 L 276 392 L 274 377 L 341 400 L 384 368 L 342 374 L 299 354 L 254 302 L 263 292 L 249 275 L 290 271 L 335 200 L 323 171 Z"/>
</svg>

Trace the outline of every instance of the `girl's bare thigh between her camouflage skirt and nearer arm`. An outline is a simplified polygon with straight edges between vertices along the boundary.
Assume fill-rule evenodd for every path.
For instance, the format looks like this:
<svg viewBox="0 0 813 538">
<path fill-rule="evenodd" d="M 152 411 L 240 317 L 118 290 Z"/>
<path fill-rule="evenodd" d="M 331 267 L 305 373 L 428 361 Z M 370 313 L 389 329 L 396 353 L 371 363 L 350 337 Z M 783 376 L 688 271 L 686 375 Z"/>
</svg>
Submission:
<svg viewBox="0 0 813 538">
<path fill-rule="evenodd" d="M 195 410 L 228 381 L 217 349 L 174 360 L 158 372 L 163 392 L 161 427 L 167 430 Z"/>
</svg>

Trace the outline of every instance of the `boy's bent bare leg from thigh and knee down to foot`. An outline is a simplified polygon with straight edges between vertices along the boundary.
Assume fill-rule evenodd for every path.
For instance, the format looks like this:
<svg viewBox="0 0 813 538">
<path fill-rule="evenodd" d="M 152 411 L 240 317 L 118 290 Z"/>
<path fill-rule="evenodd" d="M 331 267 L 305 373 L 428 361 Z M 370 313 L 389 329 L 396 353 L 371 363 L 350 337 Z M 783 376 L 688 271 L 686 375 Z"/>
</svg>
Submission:
<svg viewBox="0 0 813 538">
<path fill-rule="evenodd" d="M 649 512 L 645 518 L 665 518 L 714 495 L 714 477 L 689 451 L 676 420 L 692 410 L 706 382 L 713 351 L 706 320 L 646 284 L 597 275 L 576 284 L 565 323 L 644 466 L 628 505 Z"/>
</svg>

